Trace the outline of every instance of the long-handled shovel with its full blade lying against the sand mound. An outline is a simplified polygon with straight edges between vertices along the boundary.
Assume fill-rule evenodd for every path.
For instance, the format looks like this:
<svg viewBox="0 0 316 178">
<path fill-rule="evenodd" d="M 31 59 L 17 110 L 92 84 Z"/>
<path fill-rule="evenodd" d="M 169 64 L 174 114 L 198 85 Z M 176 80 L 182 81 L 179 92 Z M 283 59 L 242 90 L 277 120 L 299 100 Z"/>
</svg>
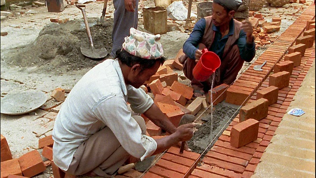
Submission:
<svg viewBox="0 0 316 178">
<path fill-rule="evenodd" d="M 80 47 L 81 53 L 84 56 L 89 57 L 91 59 L 104 58 L 105 56 L 108 55 L 108 51 L 105 47 L 102 47 L 101 49 L 94 48 L 94 45 L 92 42 L 92 37 L 91 37 L 91 32 L 90 32 L 90 28 L 89 28 L 89 24 L 88 24 L 88 20 L 87 20 L 87 16 L 85 14 L 85 10 L 83 8 L 81 8 L 81 7 L 85 8 L 85 5 L 84 4 L 76 4 L 76 7 L 78 7 L 82 11 L 85 29 L 87 31 L 88 39 L 90 42 L 90 48 Z"/>
</svg>

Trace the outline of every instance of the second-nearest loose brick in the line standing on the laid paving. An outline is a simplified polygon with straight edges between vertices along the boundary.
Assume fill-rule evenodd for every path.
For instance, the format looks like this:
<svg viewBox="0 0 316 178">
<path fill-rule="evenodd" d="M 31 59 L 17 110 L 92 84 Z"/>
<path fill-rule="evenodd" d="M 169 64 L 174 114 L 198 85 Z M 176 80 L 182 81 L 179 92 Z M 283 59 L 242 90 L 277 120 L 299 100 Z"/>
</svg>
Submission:
<svg viewBox="0 0 316 178">
<path fill-rule="evenodd" d="M 239 122 L 247 119 L 255 119 L 260 121 L 268 115 L 269 101 L 265 98 L 255 100 L 245 106 L 239 111 Z"/>
</svg>

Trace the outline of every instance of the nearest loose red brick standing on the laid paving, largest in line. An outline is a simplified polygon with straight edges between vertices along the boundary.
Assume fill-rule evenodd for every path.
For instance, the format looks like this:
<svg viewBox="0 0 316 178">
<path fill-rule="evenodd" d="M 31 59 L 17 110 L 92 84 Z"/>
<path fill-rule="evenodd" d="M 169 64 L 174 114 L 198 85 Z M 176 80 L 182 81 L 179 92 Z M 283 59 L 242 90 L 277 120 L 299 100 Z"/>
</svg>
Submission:
<svg viewBox="0 0 316 178">
<path fill-rule="evenodd" d="M 233 126 L 231 130 L 231 145 L 239 148 L 258 138 L 259 122 L 248 119 Z"/>
</svg>

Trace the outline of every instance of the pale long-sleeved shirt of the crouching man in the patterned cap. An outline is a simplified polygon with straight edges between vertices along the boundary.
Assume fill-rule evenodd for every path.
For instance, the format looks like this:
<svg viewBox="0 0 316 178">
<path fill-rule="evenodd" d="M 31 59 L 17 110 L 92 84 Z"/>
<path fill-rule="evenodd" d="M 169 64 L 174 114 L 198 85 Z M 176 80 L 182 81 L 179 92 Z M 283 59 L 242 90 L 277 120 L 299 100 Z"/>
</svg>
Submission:
<svg viewBox="0 0 316 178">
<path fill-rule="evenodd" d="M 67 171 L 79 145 L 105 127 L 130 155 L 141 160 L 151 155 L 157 142 L 141 133 L 126 102 L 136 113 L 144 113 L 154 103 L 142 89 L 125 85 L 118 60 L 107 59 L 88 71 L 68 94 L 56 117 L 52 133 L 54 163 Z M 111 146 L 106 140 L 104 135 L 104 146 Z"/>
</svg>

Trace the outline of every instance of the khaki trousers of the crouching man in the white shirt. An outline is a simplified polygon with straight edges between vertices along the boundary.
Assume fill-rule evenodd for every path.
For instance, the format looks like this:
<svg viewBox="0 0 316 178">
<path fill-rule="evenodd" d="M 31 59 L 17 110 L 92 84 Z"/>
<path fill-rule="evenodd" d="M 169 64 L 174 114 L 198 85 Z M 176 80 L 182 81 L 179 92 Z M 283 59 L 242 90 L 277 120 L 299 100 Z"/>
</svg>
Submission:
<svg viewBox="0 0 316 178">
<path fill-rule="evenodd" d="M 146 134 L 144 119 L 138 115 L 132 117 L 142 134 Z M 98 176 L 111 178 L 129 157 L 111 129 L 105 127 L 78 147 L 67 173 L 77 176 L 93 171 Z"/>
</svg>

